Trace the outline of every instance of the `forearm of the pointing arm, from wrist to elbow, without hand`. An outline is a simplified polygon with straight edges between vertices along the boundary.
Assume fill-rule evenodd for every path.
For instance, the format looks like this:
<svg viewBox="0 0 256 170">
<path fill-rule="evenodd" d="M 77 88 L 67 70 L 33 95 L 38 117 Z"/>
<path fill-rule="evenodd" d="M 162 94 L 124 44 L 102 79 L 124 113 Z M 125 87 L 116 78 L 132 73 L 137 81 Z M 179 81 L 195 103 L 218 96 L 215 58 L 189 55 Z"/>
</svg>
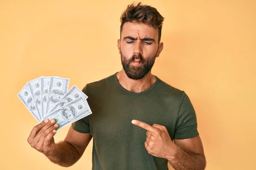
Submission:
<svg viewBox="0 0 256 170">
<path fill-rule="evenodd" d="M 204 170 L 206 159 L 203 154 L 189 153 L 176 145 L 174 156 L 167 158 L 175 170 Z"/>
</svg>

